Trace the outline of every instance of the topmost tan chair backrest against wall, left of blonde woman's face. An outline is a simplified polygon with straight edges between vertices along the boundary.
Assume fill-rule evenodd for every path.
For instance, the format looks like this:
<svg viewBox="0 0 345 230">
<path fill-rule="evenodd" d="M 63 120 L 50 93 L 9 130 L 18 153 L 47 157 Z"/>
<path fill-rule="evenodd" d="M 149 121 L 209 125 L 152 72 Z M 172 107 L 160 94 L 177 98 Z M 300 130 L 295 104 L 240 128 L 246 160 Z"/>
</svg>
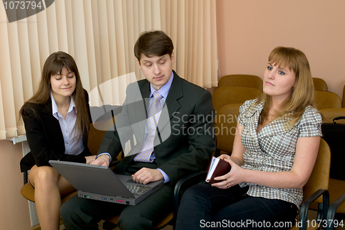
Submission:
<svg viewBox="0 0 345 230">
<path fill-rule="evenodd" d="M 262 79 L 256 75 L 226 75 L 219 79 L 218 87 L 242 86 L 262 91 Z"/>
</svg>

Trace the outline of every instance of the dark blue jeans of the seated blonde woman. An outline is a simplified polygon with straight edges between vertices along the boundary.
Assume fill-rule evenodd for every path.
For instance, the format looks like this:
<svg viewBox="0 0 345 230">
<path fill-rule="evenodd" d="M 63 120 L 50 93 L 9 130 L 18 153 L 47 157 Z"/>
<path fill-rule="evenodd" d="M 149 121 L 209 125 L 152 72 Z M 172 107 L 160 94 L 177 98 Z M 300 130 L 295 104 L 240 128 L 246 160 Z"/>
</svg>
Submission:
<svg viewBox="0 0 345 230">
<path fill-rule="evenodd" d="M 190 187 L 181 199 L 176 229 L 290 229 L 298 212 L 283 200 L 246 195 L 239 185 L 218 189 L 210 184 Z"/>
</svg>

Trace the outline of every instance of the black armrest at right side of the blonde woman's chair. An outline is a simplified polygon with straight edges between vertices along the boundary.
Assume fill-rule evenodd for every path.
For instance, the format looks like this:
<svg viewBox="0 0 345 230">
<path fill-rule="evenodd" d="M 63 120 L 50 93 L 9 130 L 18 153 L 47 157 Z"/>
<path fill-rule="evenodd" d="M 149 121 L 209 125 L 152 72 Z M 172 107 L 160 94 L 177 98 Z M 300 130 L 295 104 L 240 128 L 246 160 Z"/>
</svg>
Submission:
<svg viewBox="0 0 345 230">
<path fill-rule="evenodd" d="M 327 189 L 319 189 L 315 193 L 313 193 L 313 195 L 304 200 L 304 202 L 302 203 L 301 213 L 299 214 L 300 221 L 302 222 L 302 227 L 300 227 L 299 229 L 306 230 L 306 221 L 308 220 L 308 209 L 311 206 L 311 203 L 313 203 L 321 195 L 323 196 L 322 220 L 323 218 L 326 218 L 329 208 L 329 193 Z"/>
</svg>

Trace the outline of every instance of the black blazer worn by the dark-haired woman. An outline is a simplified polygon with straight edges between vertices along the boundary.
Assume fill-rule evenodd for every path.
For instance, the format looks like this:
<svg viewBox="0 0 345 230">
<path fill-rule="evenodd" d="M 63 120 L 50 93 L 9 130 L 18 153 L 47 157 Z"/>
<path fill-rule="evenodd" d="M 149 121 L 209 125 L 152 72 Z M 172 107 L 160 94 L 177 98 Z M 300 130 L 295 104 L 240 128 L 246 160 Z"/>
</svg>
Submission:
<svg viewBox="0 0 345 230">
<path fill-rule="evenodd" d="M 84 93 L 88 106 L 88 93 L 86 90 L 84 90 Z M 79 155 L 65 154 L 65 144 L 60 124 L 52 115 L 51 99 L 48 99 L 46 104 L 32 104 L 32 107 L 37 115 L 33 115 L 30 109 L 25 108 L 22 115 L 26 128 L 26 139 L 31 151 L 21 159 L 21 171 L 28 171 L 34 164 L 37 166 L 50 166 L 49 160 L 86 163 L 85 156 L 91 155 L 88 149 L 88 137 L 83 137 L 85 148 L 82 153 Z M 89 106 L 88 111 L 90 116 Z"/>
</svg>

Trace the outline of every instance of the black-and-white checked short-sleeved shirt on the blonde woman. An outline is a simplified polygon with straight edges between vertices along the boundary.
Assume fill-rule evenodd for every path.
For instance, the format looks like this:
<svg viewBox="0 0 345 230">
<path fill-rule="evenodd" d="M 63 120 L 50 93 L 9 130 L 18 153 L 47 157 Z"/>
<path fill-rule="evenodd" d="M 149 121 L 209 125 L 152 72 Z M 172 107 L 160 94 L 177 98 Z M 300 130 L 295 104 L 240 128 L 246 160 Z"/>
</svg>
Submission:
<svg viewBox="0 0 345 230">
<path fill-rule="evenodd" d="M 239 108 L 239 124 L 244 126 L 241 139 L 246 148 L 242 168 L 268 172 L 290 171 L 295 159 L 297 138 L 322 135 L 321 115 L 313 106 L 308 106 L 290 130 L 286 130 L 284 125 L 288 118 L 279 117 L 257 133 L 264 102 L 257 105 L 255 102 L 257 99 L 248 100 Z M 302 203 L 303 189 L 275 189 L 246 182 L 239 186 L 249 186 L 247 194 L 253 197 L 285 200 L 297 207 Z"/>
</svg>

